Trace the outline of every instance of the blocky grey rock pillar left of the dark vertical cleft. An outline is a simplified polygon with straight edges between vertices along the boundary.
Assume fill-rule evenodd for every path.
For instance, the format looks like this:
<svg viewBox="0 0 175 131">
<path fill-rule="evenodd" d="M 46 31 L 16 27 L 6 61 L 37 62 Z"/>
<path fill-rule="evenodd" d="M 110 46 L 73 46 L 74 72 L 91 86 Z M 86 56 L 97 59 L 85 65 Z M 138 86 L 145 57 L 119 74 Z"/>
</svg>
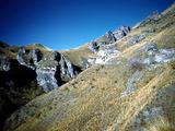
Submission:
<svg viewBox="0 0 175 131">
<path fill-rule="evenodd" d="M 57 52 L 45 56 L 45 58 L 38 62 L 36 69 L 37 83 L 48 92 L 58 87 L 60 82 L 57 82 L 59 75 L 59 64 L 60 56 Z M 57 73 L 58 72 L 58 73 Z"/>
</svg>

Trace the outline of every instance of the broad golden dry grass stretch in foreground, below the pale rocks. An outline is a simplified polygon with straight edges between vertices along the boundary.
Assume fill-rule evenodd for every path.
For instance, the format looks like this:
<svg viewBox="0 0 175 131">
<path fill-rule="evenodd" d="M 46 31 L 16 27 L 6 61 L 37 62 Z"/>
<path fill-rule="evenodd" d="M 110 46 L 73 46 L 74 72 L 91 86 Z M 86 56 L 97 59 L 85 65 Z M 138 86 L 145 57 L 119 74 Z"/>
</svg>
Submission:
<svg viewBox="0 0 175 131">
<path fill-rule="evenodd" d="M 147 78 L 138 81 L 137 91 L 127 97 L 120 97 L 132 74 L 127 66 L 100 66 L 85 70 L 77 80 L 34 99 L 30 105 L 40 106 L 16 131 L 131 130 L 128 126 L 151 105 L 158 91 L 175 81 L 171 66 L 151 71 L 143 69 Z"/>
</svg>

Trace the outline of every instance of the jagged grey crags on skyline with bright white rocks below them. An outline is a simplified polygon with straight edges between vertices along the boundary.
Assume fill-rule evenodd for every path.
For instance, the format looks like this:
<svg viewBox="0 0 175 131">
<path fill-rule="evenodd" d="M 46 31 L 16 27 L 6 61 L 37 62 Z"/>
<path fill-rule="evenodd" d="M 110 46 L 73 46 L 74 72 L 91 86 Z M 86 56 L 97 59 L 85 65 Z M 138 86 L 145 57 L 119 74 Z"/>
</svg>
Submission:
<svg viewBox="0 0 175 131">
<path fill-rule="evenodd" d="M 86 61 L 83 60 L 83 63 L 81 62 L 81 64 L 83 64 L 84 68 L 89 68 L 93 64 L 109 63 L 110 59 L 115 58 L 119 53 L 112 44 L 127 36 L 130 31 L 129 26 L 121 26 L 114 32 L 107 32 L 103 37 L 92 41 L 89 48 L 92 52 L 96 53 L 96 56 L 86 59 Z M 133 39 L 130 39 L 129 43 L 136 44 L 141 41 L 143 38 L 144 35 L 139 35 Z"/>
</svg>

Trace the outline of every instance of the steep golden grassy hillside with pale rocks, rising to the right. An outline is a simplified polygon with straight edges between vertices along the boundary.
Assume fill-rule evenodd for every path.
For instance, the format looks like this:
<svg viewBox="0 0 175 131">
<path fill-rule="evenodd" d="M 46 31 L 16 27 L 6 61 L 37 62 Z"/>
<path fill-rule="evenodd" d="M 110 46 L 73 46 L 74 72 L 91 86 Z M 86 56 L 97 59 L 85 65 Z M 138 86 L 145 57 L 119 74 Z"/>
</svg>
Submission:
<svg viewBox="0 0 175 131">
<path fill-rule="evenodd" d="M 175 4 L 127 28 L 62 51 L 75 66 L 82 57 L 84 71 L 16 110 L 4 130 L 174 131 Z"/>
</svg>

